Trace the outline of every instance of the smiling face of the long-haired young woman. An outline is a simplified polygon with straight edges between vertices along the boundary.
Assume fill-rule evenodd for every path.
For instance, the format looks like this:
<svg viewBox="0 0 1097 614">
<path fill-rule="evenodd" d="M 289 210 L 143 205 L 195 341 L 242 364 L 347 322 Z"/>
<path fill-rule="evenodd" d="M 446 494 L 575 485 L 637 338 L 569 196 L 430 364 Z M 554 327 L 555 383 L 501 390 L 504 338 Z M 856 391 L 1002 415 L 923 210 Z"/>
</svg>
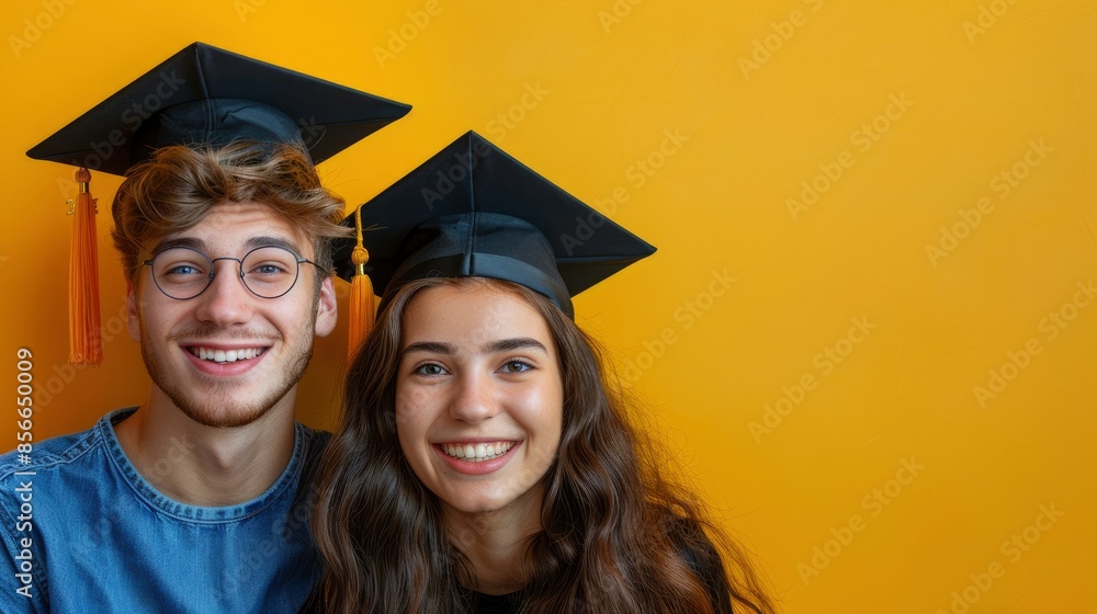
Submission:
<svg viewBox="0 0 1097 614">
<path fill-rule="evenodd" d="M 542 316 L 499 286 L 432 287 L 408 304 L 400 349 L 400 448 L 445 514 L 539 514 L 564 406 Z"/>
</svg>

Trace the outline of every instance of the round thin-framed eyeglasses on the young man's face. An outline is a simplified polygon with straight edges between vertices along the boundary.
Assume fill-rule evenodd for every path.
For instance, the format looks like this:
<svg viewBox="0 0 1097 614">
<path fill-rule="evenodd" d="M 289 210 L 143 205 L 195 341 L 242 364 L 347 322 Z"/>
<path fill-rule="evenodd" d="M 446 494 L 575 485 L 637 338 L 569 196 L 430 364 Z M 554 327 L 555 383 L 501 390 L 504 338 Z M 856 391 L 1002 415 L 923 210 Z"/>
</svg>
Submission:
<svg viewBox="0 0 1097 614">
<path fill-rule="evenodd" d="M 210 287 L 216 273 L 213 264 L 218 260 L 239 263 L 240 281 L 260 298 L 278 298 L 290 292 L 297 283 L 303 262 L 324 271 L 319 264 L 278 246 L 256 248 L 244 258 L 213 259 L 196 249 L 168 248 L 142 264 L 152 269 L 152 281 L 160 292 L 170 298 L 186 300 Z"/>
</svg>

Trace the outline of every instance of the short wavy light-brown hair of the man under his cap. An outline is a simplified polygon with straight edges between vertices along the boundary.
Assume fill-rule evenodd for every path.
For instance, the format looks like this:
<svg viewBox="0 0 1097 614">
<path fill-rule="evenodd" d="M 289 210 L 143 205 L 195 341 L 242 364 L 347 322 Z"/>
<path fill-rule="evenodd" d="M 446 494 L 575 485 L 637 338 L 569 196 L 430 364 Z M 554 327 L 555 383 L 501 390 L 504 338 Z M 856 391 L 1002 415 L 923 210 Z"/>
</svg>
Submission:
<svg viewBox="0 0 1097 614">
<path fill-rule="evenodd" d="M 137 283 L 143 258 L 172 232 L 202 221 L 219 203 L 255 201 L 271 208 L 313 241 L 313 260 L 331 270 L 331 239 L 350 235 L 339 226 L 344 202 L 320 185 L 298 148 L 273 151 L 249 141 L 220 148 L 170 146 L 135 166 L 114 195 L 111 237 L 126 278 Z M 317 276 L 316 289 L 323 275 Z"/>
</svg>

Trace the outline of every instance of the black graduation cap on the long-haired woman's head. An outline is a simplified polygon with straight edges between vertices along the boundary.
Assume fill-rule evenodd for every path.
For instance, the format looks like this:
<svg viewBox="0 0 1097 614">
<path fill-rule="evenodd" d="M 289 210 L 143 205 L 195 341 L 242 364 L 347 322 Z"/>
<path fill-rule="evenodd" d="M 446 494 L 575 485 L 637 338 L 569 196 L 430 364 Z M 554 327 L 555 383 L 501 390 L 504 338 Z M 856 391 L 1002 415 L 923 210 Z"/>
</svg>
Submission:
<svg viewBox="0 0 1097 614">
<path fill-rule="evenodd" d="M 655 248 L 470 132 L 362 205 L 365 273 L 382 297 L 423 277 L 494 277 L 570 297 Z M 354 226 L 354 216 L 343 224 Z M 339 275 L 353 274 L 346 240 Z M 386 299 L 382 299 L 384 307 Z"/>
</svg>

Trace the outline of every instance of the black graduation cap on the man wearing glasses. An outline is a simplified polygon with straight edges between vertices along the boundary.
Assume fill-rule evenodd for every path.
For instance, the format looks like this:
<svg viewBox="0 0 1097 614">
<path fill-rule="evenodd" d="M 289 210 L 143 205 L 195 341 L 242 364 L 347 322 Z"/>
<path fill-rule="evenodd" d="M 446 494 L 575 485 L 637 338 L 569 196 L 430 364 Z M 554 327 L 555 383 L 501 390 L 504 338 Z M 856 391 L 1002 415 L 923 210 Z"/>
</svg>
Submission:
<svg viewBox="0 0 1097 614">
<path fill-rule="evenodd" d="M 121 175 L 158 147 L 247 139 L 271 148 L 296 144 L 319 163 L 410 110 L 194 43 L 26 155 Z"/>
</svg>

